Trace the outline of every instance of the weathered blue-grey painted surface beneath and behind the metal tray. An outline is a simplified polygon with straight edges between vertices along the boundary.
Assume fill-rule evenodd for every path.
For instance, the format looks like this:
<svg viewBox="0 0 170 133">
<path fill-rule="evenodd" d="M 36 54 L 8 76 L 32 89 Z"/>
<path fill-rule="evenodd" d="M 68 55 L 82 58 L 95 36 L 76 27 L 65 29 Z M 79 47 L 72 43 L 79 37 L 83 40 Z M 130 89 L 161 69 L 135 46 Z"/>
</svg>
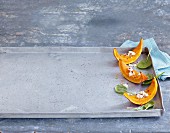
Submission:
<svg viewBox="0 0 170 133">
<path fill-rule="evenodd" d="M 120 46 L 153 37 L 170 54 L 169 0 L 0 0 L 0 46 Z M 3 132 L 170 132 L 170 81 L 160 118 L 0 119 Z"/>
</svg>

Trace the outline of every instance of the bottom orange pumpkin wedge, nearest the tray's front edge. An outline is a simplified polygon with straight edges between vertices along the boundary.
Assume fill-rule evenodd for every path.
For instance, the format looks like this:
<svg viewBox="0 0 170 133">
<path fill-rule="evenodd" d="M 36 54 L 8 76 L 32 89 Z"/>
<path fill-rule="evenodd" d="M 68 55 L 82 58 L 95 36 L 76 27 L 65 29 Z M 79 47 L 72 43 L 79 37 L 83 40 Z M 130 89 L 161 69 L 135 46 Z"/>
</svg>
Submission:
<svg viewBox="0 0 170 133">
<path fill-rule="evenodd" d="M 158 88 L 158 83 L 156 78 L 154 77 L 150 86 L 145 90 L 145 92 L 148 93 L 147 97 L 137 98 L 136 95 L 129 95 L 128 93 L 124 93 L 123 95 L 132 103 L 137 105 L 143 105 L 154 98 L 157 92 L 157 88 Z"/>
</svg>

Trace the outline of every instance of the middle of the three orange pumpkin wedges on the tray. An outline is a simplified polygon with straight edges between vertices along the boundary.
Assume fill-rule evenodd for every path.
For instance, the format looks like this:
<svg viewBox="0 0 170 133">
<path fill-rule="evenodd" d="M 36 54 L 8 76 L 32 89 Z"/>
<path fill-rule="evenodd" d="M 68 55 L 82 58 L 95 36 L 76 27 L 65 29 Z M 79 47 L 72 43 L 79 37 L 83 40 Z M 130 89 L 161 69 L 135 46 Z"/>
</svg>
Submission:
<svg viewBox="0 0 170 133">
<path fill-rule="evenodd" d="M 134 75 L 129 76 L 129 66 L 124 63 L 121 59 L 119 60 L 119 68 L 120 71 L 127 80 L 131 81 L 132 83 L 139 84 L 145 80 L 148 79 L 148 77 L 143 74 L 142 72 L 137 72 L 136 70 L 133 70 Z"/>
</svg>

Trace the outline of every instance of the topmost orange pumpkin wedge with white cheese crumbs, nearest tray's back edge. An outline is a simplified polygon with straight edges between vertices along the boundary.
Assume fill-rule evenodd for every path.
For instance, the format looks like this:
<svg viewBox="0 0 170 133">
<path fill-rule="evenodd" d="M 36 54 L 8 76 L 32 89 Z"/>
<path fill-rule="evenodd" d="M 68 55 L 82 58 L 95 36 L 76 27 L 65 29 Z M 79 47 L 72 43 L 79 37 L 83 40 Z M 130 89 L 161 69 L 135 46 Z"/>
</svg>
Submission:
<svg viewBox="0 0 170 133">
<path fill-rule="evenodd" d="M 113 55 L 116 57 L 117 60 L 121 59 L 126 64 L 130 64 L 135 62 L 139 58 L 142 52 L 142 48 L 143 48 L 143 39 L 140 40 L 137 47 L 135 47 L 132 51 L 129 51 L 127 54 L 119 54 L 117 49 L 114 48 Z"/>
</svg>

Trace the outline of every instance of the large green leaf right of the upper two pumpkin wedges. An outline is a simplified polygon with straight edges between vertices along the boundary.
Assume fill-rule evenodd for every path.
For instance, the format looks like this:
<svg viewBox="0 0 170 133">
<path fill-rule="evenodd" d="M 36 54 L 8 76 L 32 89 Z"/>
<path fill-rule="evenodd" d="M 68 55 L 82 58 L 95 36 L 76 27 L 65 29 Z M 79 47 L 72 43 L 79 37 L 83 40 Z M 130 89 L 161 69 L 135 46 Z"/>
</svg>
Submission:
<svg viewBox="0 0 170 133">
<path fill-rule="evenodd" d="M 148 68 L 152 65 L 152 61 L 151 61 L 151 58 L 146 58 L 146 59 L 143 59 L 141 60 L 138 64 L 137 64 L 137 68 L 139 69 L 145 69 L 145 68 Z"/>
</svg>

